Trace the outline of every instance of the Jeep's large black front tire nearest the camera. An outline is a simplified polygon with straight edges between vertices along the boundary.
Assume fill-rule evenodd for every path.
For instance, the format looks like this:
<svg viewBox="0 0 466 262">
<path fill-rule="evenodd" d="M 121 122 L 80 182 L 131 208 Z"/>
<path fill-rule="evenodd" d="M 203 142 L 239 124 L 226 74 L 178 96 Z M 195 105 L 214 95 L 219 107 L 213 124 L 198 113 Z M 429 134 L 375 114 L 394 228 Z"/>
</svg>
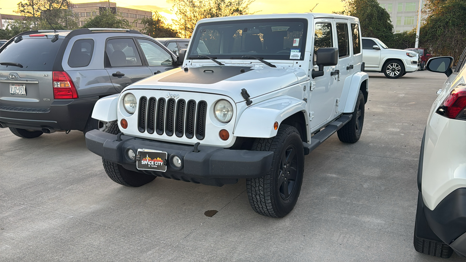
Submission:
<svg viewBox="0 0 466 262">
<path fill-rule="evenodd" d="M 253 143 L 252 150 L 271 151 L 274 152 L 274 156 L 270 171 L 265 176 L 246 179 L 249 203 L 258 214 L 275 218 L 284 217 L 295 207 L 301 191 L 304 173 L 304 149 L 299 132 L 293 126 L 282 124 L 277 135 L 273 138 L 257 138 Z M 291 152 L 295 152 L 293 157 Z M 287 154 L 289 164 L 286 160 Z M 283 165 L 282 160 L 288 164 L 288 168 Z M 280 179 L 280 173 L 288 173 L 288 171 L 291 172 L 288 181 L 283 176 Z M 283 185 L 287 186 L 288 197 L 286 197 L 286 193 L 282 194 Z M 291 191 L 289 191 L 289 187 L 291 187 Z"/>
</svg>

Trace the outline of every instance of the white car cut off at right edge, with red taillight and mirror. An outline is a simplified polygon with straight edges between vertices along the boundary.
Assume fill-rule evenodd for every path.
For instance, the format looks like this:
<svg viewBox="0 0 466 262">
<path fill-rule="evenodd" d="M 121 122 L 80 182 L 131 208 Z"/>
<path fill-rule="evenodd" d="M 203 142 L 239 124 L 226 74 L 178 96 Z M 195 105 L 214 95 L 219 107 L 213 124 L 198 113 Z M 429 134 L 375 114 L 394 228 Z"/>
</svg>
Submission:
<svg viewBox="0 0 466 262">
<path fill-rule="evenodd" d="M 418 167 L 414 248 L 448 258 L 466 256 L 466 49 L 456 69 L 449 56 L 429 59 L 448 78 L 432 104 Z"/>
</svg>

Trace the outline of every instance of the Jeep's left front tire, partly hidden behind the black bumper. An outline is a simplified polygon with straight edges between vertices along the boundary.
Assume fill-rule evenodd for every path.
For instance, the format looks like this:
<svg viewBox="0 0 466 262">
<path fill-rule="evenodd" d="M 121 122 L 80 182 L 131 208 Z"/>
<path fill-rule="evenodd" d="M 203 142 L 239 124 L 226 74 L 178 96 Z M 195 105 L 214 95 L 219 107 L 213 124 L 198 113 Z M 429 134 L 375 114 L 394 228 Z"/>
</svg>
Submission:
<svg viewBox="0 0 466 262">
<path fill-rule="evenodd" d="M 114 121 L 110 124 L 110 127 L 107 130 L 107 133 L 118 134 L 120 129 L 118 128 L 117 121 Z M 131 171 L 125 169 L 122 165 L 113 163 L 110 161 L 105 161 L 102 158 L 103 169 L 114 182 L 123 185 L 123 186 L 143 186 L 156 178 L 156 176 L 148 175 L 136 171 Z"/>
</svg>

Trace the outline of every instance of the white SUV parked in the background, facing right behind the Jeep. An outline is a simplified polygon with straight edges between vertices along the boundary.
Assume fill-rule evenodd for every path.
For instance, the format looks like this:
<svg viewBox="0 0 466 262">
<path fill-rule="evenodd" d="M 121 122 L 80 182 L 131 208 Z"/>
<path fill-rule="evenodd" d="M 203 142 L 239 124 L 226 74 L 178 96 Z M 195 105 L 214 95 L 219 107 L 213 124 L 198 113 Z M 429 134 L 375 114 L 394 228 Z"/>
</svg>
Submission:
<svg viewBox="0 0 466 262">
<path fill-rule="evenodd" d="M 363 62 L 366 72 L 382 72 L 387 78 L 398 78 L 419 69 L 419 54 L 388 48 L 377 38 L 363 37 Z"/>
</svg>

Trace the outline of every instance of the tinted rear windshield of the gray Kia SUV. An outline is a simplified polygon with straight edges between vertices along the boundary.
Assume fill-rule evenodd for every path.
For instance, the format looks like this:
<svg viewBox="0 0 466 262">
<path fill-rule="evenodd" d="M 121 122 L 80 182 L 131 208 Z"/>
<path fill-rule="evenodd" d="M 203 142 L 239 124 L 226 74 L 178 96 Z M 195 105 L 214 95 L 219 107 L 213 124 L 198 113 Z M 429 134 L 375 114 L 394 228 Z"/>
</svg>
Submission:
<svg viewBox="0 0 466 262">
<path fill-rule="evenodd" d="M 23 67 L 0 65 L 0 70 L 52 71 L 55 56 L 63 39 L 52 42 L 50 38 L 27 38 L 9 44 L 0 55 L 0 62 L 19 63 Z"/>
</svg>

